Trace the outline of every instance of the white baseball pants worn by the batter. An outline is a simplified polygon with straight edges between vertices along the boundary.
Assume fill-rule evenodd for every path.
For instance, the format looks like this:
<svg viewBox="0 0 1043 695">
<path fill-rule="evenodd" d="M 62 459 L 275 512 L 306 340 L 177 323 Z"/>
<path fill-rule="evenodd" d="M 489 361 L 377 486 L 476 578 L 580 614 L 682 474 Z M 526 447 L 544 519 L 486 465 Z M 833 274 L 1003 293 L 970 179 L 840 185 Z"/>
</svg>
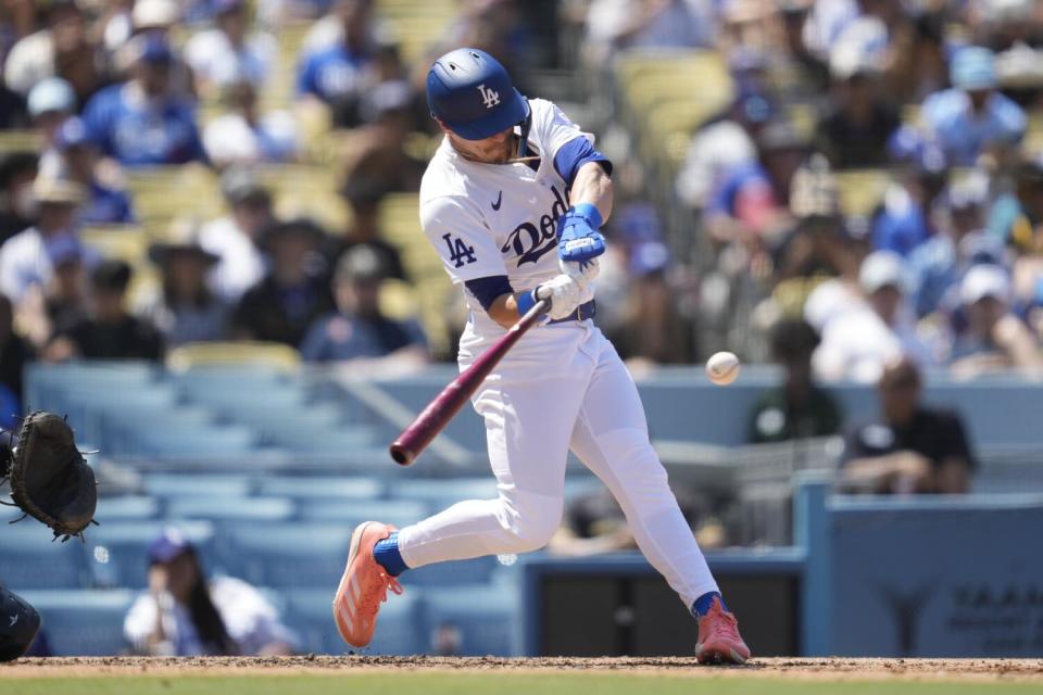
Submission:
<svg viewBox="0 0 1043 695">
<path fill-rule="evenodd" d="M 481 341 L 465 334 L 461 368 Z M 564 509 L 570 448 L 608 486 L 644 556 L 687 607 L 717 591 L 666 470 L 649 442 L 638 390 L 591 321 L 538 327 L 473 399 L 486 421 L 497 500 L 467 501 L 399 531 L 410 567 L 543 547 Z"/>
</svg>

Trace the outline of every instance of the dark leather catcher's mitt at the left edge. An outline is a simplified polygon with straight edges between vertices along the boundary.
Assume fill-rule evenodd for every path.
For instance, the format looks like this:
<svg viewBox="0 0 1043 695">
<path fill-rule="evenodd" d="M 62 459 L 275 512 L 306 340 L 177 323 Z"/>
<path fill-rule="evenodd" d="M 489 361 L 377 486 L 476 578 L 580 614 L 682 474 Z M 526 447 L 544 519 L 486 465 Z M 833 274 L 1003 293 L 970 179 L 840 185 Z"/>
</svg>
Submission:
<svg viewBox="0 0 1043 695">
<path fill-rule="evenodd" d="M 7 476 L 14 505 L 49 526 L 54 538 L 83 540 L 95 518 L 98 486 L 65 418 L 30 413 L 12 442 Z"/>
</svg>

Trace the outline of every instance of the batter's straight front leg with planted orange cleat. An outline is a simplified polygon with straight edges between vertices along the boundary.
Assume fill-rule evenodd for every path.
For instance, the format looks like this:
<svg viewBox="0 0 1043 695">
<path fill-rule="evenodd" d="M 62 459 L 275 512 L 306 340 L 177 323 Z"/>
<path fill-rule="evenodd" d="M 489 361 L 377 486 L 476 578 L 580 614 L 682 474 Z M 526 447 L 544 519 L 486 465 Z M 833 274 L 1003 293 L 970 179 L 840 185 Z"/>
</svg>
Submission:
<svg viewBox="0 0 1043 695">
<path fill-rule="evenodd" d="M 612 344 L 601 336 L 598 340 L 600 359 L 579 408 L 571 450 L 608 486 L 641 552 L 700 619 L 700 658 L 742 662 L 749 649 L 733 629 L 733 618 L 649 442 L 637 388 Z"/>
</svg>

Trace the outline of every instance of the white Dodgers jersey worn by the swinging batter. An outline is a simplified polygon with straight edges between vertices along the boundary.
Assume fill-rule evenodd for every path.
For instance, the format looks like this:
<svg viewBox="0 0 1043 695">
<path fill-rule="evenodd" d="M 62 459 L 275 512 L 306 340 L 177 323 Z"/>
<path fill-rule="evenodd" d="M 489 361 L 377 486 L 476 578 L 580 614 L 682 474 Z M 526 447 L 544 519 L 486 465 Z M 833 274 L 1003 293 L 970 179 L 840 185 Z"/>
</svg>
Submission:
<svg viewBox="0 0 1043 695">
<path fill-rule="evenodd" d="M 442 140 L 420 184 L 420 224 L 456 285 L 505 275 L 515 292 L 550 280 L 557 264 L 557 219 L 569 207 L 568 185 L 554 168 L 558 149 L 578 137 L 594 141 L 550 101 L 530 99 L 529 148 L 539 168 L 526 163 L 481 164 Z M 469 330 L 479 338 L 503 334 L 465 290 Z M 589 298 L 585 298 L 586 299 Z"/>
</svg>

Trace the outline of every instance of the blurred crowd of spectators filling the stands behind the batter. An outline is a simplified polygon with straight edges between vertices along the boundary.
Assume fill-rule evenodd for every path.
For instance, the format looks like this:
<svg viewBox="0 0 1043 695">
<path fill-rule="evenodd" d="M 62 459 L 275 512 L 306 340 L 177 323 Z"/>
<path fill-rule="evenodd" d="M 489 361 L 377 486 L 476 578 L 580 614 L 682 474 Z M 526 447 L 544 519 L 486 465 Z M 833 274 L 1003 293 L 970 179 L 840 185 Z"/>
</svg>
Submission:
<svg viewBox="0 0 1043 695">
<path fill-rule="evenodd" d="M 305 30 L 273 100 L 287 26 Z M 415 278 L 380 210 L 418 188 L 424 151 L 407 143 L 435 141 L 425 67 L 462 43 L 530 93 L 550 83 L 522 67 L 560 68 L 564 101 L 610 135 L 600 77 L 619 56 L 703 49 L 726 66 L 732 99 L 691 134 L 665 206 L 627 138 L 604 143 L 620 203 L 598 320 L 634 368 L 696 362 L 714 330 L 764 359 L 779 321 L 802 318 L 818 380 L 876 382 L 900 355 L 968 378 L 1043 374 L 1038 2 L 467 0 L 407 62 L 368 0 L 8 0 L 0 128 L 36 146 L 0 162 L 8 397 L 26 359 L 159 359 L 197 341 L 426 359 L 420 324 L 381 309 L 386 281 Z M 324 160 L 330 130 L 343 147 Z M 342 228 L 277 213 L 255 168 L 300 163 L 328 166 Z M 226 213 L 156 229 L 127 181 L 166 165 L 213 170 Z M 852 213 L 845 175 L 867 170 L 885 184 Z M 667 224 L 678 211 L 689 224 Z M 149 230 L 146 277 L 84 241 L 113 225 Z"/>
</svg>

